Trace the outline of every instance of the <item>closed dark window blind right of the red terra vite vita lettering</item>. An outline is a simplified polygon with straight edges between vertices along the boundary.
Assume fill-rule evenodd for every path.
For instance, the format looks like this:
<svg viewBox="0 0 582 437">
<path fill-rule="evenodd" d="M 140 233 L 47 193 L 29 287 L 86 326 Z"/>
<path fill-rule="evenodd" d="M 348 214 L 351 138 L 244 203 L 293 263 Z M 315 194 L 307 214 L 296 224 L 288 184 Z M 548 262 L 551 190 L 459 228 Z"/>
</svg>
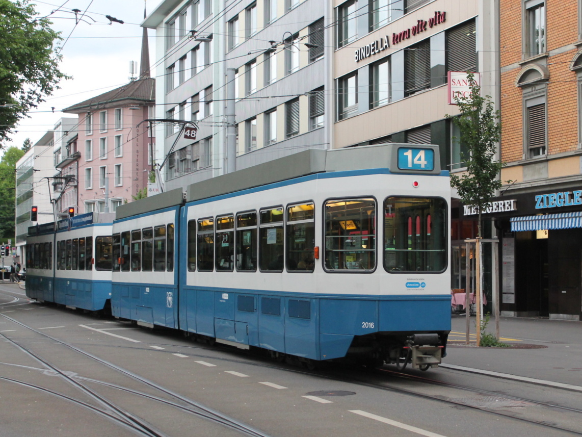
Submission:
<svg viewBox="0 0 582 437">
<path fill-rule="evenodd" d="M 475 20 L 470 20 L 446 33 L 446 69 L 477 71 Z"/>
</svg>

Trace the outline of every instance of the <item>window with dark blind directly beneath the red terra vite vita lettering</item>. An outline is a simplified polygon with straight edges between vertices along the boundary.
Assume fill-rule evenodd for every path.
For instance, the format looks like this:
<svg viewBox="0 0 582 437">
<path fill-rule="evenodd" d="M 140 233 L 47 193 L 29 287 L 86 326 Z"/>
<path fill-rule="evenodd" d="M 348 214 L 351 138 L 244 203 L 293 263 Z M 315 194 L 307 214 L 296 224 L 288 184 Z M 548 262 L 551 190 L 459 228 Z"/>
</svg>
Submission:
<svg viewBox="0 0 582 437">
<path fill-rule="evenodd" d="M 431 87 L 431 41 L 427 38 L 404 51 L 404 95 Z"/>
</svg>

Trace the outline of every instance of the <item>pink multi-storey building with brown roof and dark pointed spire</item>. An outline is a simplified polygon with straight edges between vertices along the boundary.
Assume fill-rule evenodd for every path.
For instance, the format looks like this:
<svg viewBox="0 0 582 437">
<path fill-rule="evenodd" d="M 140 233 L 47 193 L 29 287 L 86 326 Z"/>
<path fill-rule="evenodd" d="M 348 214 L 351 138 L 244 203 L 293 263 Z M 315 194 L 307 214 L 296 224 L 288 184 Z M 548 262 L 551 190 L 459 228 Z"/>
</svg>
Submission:
<svg viewBox="0 0 582 437">
<path fill-rule="evenodd" d="M 56 167 L 62 174 L 76 170 L 78 183 L 63 186 L 63 201 L 57 203 L 61 213 L 70 206 L 80 214 L 115 212 L 147 191 L 154 137 L 143 121 L 154 117 L 155 79 L 150 77 L 146 32 L 138 80 L 63 110 L 79 115 L 78 137 L 74 152 L 68 151 Z"/>
</svg>

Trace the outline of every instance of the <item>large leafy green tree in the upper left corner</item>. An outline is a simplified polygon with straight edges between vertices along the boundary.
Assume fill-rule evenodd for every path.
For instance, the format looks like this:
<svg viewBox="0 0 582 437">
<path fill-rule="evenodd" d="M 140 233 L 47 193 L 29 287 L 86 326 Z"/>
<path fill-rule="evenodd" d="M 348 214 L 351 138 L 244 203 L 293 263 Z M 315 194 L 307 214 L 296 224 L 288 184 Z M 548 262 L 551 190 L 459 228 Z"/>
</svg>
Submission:
<svg viewBox="0 0 582 437">
<path fill-rule="evenodd" d="M 68 79 L 58 69 L 62 38 L 30 0 L 0 0 L 0 143 L 31 108 Z"/>
</svg>

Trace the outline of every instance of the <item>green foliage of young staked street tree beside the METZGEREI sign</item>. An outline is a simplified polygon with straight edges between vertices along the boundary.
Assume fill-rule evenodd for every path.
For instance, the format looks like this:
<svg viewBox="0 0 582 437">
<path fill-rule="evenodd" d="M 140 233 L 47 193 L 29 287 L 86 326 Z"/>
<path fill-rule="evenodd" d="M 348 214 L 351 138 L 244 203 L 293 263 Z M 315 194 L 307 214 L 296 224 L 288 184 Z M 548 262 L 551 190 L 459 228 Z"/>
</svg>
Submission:
<svg viewBox="0 0 582 437">
<path fill-rule="evenodd" d="M 471 94 L 455 97 L 460 116 L 446 115 L 459 127 L 460 141 L 467 154 L 461 153 L 467 165 L 462 175 L 451 175 L 450 185 L 457 189 L 464 205 L 474 207 L 478 214 L 478 237 L 481 237 L 481 213 L 501 188 L 499 172 L 505 164 L 496 156 L 496 145 L 501 136 L 499 111 L 495 111 L 490 96 L 481 96 L 481 87 L 473 73 L 468 73 Z"/>
</svg>

